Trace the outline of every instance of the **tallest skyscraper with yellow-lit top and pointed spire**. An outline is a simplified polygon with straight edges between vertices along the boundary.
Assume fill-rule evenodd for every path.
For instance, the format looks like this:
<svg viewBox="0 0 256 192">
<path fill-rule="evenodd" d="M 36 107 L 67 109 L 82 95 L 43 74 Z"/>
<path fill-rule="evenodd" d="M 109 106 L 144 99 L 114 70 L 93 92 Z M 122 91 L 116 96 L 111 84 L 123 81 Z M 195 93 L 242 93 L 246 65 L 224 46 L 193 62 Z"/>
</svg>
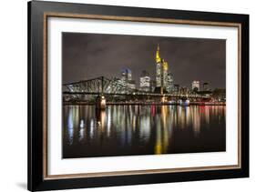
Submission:
<svg viewBox="0 0 256 192">
<path fill-rule="evenodd" d="M 156 52 L 156 87 L 157 92 L 168 91 L 173 89 L 173 76 L 169 72 L 168 62 L 160 57 L 160 49 Z"/>
</svg>

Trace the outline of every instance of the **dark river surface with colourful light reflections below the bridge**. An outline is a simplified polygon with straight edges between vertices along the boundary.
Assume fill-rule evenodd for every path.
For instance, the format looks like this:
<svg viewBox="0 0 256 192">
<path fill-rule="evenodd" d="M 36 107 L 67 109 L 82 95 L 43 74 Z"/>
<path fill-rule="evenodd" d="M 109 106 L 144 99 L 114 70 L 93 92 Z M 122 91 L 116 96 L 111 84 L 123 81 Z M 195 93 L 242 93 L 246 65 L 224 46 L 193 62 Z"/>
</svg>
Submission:
<svg viewBox="0 0 256 192">
<path fill-rule="evenodd" d="M 64 106 L 63 157 L 226 150 L 225 106 Z"/>
</svg>

